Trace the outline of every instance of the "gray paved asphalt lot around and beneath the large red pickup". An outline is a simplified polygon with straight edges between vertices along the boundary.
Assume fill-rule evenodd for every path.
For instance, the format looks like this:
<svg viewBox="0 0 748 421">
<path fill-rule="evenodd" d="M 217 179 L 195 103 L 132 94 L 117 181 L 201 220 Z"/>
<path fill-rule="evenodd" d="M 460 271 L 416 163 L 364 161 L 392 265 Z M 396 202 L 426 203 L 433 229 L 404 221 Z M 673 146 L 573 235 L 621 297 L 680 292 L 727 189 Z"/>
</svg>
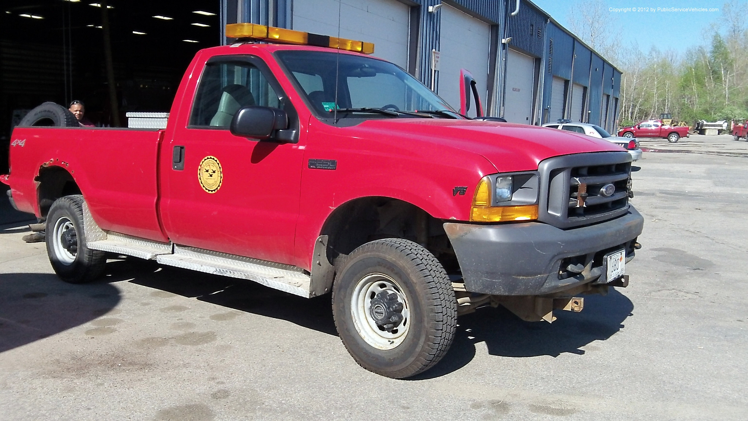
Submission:
<svg viewBox="0 0 748 421">
<path fill-rule="evenodd" d="M 408 381 L 354 363 L 329 297 L 137 260 L 67 285 L 6 226 L 0 419 L 747 420 L 748 142 L 642 145 L 631 285 L 554 324 L 480 309 Z"/>
</svg>

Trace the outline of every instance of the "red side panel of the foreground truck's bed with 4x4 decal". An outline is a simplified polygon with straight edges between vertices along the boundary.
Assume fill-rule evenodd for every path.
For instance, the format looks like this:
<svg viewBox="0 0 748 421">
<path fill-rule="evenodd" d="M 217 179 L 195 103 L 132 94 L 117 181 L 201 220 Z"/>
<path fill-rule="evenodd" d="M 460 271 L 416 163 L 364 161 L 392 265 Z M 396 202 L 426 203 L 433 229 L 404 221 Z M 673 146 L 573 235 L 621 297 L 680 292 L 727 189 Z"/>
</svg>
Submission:
<svg viewBox="0 0 748 421">
<path fill-rule="evenodd" d="M 156 129 L 16 128 L 7 177 L 13 201 L 40 216 L 37 181 L 46 172 L 64 171 L 75 178 L 102 229 L 166 241 L 156 213 L 162 136 Z"/>
</svg>

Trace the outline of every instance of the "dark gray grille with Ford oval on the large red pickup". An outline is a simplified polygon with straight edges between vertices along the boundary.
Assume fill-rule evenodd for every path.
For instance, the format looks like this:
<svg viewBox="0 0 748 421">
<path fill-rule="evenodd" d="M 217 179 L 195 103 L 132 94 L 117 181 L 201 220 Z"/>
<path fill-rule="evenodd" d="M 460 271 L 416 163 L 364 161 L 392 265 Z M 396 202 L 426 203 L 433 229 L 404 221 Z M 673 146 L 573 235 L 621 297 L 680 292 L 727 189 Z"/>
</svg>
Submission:
<svg viewBox="0 0 748 421">
<path fill-rule="evenodd" d="M 554 157 L 540 163 L 539 172 L 542 187 L 538 219 L 542 222 L 571 228 L 628 212 L 628 152 Z"/>
</svg>

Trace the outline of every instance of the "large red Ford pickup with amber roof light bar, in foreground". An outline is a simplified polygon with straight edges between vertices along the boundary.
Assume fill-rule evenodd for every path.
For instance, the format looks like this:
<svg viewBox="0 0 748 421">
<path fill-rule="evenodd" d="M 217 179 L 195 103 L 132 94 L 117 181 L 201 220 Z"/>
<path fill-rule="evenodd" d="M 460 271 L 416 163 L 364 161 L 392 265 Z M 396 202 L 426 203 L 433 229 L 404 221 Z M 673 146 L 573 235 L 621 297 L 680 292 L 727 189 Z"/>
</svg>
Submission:
<svg viewBox="0 0 748 421">
<path fill-rule="evenodd" d="M 165 130 L 39 127 L 70 121 L 55 104 L 13 130 L 0 180 L 64 281 L 114 252 L 332 293 L 343 344 L 390 378 L 437 363 L 478 307 L 552 322 L 628 285 L 628 152 L 465 118 L 365 43 L 228 29 L 278 36 L 198 52 Z"/>
</svg>

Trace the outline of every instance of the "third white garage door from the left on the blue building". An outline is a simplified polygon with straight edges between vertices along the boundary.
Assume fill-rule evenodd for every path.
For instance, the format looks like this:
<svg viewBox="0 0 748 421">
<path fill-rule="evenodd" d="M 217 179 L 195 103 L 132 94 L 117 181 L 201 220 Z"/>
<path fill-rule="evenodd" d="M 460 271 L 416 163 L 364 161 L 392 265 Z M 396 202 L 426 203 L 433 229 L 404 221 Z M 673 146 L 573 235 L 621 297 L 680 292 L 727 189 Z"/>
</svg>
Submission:
<svg viewBox="0 0 748 421">
<path fill-rule="evenodd" d="M 510 123 L 533 124 L 535 58 L 509 49 L 506 58 L 504 118 Z"/>
</svg>

